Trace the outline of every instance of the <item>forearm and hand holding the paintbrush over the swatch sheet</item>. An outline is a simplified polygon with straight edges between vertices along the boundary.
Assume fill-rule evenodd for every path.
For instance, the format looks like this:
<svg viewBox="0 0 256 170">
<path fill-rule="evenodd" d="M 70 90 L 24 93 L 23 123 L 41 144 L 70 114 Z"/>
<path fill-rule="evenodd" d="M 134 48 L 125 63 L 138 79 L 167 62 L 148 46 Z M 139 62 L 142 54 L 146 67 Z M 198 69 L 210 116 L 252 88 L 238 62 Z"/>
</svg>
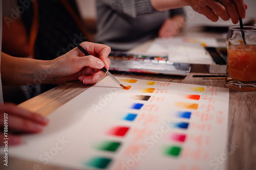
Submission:
<svg viewBox="0 0 256 170">
<path fill-rule="evenodd" d="M 105 75 L 100 68 L 109 68 L 110 47 L 91 42 L 83 42 L 81 46 L 93 56 L 84 56 L 77 47 L 49 61 L 2 53 L 2 82 L 5 85 L 61 84 L 79 79 L 84 84 L 95 83 Z"/>
</svg>

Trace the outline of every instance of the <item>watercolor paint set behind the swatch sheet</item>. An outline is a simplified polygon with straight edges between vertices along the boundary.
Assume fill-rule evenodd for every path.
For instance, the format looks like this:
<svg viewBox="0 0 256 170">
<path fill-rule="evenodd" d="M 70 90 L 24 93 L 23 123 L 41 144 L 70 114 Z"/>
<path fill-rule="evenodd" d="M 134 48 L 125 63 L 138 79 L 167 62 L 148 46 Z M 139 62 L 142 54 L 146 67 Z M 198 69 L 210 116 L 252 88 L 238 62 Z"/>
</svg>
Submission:
<svg viewBox="0 0 256 170">
<path fill-rule="evenodd" d="M 166 54 L 111 52 L 110 70 L 186 76 L 189 64 L 168 61 Z"/>
</svg>

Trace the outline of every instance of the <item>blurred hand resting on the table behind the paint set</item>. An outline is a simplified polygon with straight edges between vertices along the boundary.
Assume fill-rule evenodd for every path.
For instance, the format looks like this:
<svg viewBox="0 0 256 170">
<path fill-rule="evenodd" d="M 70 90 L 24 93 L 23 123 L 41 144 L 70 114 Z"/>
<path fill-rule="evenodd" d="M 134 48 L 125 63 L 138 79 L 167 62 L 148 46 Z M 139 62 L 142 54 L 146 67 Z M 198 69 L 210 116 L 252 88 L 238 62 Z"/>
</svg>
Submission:
<svg viewBox="0 0 256 170">
<path fill-rule="evenodd" d="M 160 38 L 172 37 L 177 35 L 184 27 L 185 18 L 182 15 L 176 15 L 164 21 L 162 27 L 158 32 Z"/>
</svg>

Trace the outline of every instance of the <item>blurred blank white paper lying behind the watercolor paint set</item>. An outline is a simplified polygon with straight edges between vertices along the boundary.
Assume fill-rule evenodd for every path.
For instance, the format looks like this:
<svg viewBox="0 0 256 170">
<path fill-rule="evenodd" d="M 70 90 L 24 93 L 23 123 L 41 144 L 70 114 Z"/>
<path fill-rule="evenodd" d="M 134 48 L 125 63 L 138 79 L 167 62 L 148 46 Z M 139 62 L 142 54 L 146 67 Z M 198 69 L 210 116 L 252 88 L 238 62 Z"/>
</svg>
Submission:
<svg viewBox="0 0 256 170">
<path fill-rule="evenodd" d="M 215 38 L 156 38 L 147 52 L 166 53 L 174 63 L 215 64 L 203 46 L 217 47 L 218 42 Z"/>
</svg>

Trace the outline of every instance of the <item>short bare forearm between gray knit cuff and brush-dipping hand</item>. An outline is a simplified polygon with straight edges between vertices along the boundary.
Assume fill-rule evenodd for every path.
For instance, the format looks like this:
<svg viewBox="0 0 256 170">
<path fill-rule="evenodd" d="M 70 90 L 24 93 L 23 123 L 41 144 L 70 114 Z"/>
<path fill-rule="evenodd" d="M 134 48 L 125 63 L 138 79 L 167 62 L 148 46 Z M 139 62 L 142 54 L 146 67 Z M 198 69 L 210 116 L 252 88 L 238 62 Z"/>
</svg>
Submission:
<svg viewBox="0 0 256 170">
<path fill-rule="evenodd" d="M 188 6 L 186 0 L 150 0 L 152 7 L 157 11 L 166 11 Z"/>
</svg>

